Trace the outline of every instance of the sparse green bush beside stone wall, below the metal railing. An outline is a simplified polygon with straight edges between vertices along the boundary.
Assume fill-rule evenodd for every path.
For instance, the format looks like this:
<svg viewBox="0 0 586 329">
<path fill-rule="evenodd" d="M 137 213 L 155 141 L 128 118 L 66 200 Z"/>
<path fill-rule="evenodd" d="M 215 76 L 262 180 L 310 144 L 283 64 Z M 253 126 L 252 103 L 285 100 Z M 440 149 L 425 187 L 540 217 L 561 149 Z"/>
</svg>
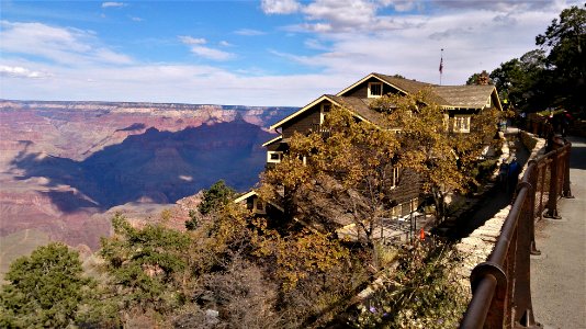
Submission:
<svg viewBox="0 0 586 329">
<path fill-rule="evenodd" d="M 405 249 L 385 285 L 359 306 L 350 324 L 357 328 L 454 328 L 465 310 L 455 281 L 459 258 L 449 246 Z"/>
</svg>

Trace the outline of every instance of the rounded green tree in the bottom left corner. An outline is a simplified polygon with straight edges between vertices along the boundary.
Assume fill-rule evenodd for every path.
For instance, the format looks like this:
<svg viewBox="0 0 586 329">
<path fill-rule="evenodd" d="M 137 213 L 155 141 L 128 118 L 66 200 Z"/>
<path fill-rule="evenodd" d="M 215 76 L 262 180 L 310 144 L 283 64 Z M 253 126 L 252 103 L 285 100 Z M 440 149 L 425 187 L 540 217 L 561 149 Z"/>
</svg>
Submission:
<svg viewBox="0 0 586 329">
<path fill-rule="evenodd" d="M 0 327 L 65 328 L 76 322 L 95 282 L 82 275 L 76 251 L 54 242 L 15 260 L 0 292 Z"/>
</svg>

